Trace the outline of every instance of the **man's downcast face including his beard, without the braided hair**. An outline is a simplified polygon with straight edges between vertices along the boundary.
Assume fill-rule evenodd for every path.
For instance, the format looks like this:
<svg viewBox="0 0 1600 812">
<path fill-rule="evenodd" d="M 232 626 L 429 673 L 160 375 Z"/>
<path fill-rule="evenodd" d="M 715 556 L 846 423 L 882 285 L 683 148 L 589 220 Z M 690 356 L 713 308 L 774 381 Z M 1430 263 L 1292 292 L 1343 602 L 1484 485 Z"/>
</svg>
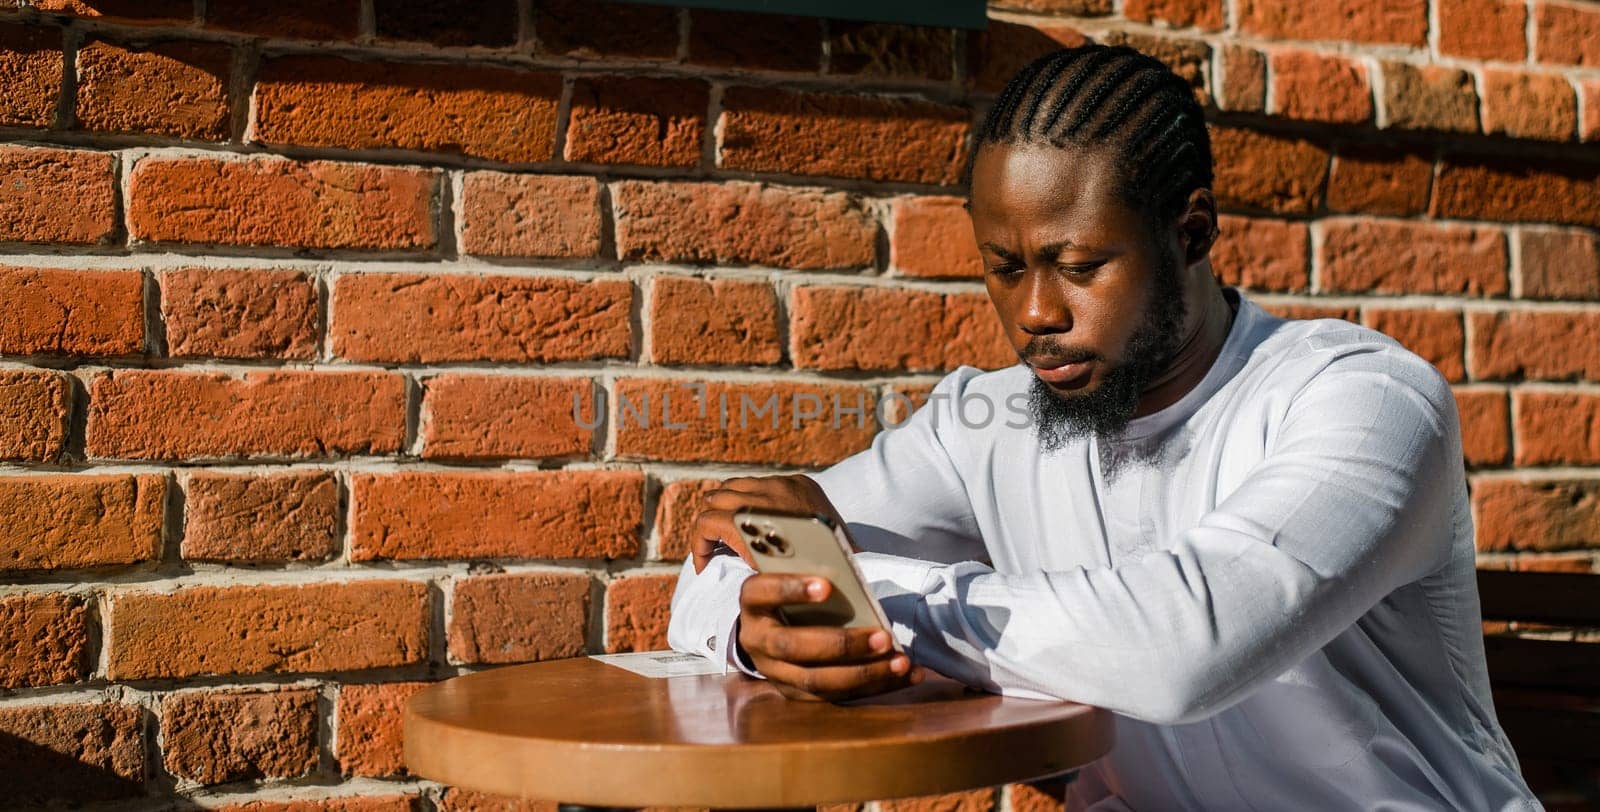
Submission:
<svg viewBox="0 0 1600 812">
<path fill-rule="evenodd" d="M 984 283 L 1018 356 L 1046 449 L 1115 435 L 1166 368 L 1184 326 L 1174 240 L 1115 193 L 1096 152 L 989 144 L 973 165 Z"/>
</svg>

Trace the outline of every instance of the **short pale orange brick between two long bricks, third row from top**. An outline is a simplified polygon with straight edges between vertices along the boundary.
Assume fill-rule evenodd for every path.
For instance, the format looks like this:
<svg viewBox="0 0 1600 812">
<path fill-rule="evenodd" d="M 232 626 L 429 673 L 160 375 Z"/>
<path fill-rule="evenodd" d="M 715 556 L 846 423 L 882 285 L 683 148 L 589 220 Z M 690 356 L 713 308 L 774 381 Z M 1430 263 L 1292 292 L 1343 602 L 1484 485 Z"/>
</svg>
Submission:
<svg viewBox="0 0 1600 812">
<path fill-rule="evenodd" d="M 461 249 L 467 254 L 600 254 L 600 184 L 594 177 L 467 173 L 461 198 Z"/>
</svg>

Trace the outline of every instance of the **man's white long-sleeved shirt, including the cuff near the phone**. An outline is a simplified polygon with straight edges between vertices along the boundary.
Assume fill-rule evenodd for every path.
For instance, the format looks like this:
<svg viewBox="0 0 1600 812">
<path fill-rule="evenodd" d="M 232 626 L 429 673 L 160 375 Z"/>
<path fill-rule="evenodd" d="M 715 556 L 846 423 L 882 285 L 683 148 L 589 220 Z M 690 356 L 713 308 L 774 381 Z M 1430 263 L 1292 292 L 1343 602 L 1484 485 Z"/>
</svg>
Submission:
<svg viewBox="0 0 1600 812">
<path fill-rule="evenodd" d="M 813 476 L 914 662 L 1115 711 L 1069 810 L 1541 809 L 1494 716 L 1432 366 L 1240 297 L 1182 400 L 1050 454 L 1030 374 L 962 366 Z M 747 670 L 749 574 L 685 561 L 670 644 Z"/>
</svg>

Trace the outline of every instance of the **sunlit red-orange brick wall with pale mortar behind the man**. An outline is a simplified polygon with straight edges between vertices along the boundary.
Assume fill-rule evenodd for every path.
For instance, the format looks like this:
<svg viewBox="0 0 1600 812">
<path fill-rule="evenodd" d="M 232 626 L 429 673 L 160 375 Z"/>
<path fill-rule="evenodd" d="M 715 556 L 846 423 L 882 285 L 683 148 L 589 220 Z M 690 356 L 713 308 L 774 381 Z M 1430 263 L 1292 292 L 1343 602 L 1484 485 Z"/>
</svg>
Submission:
<svg viewBox="0 0 1600 812">
<path fill-rule="evenodd" d="M 662 646 L 709 478 L 1013 360 L 952 184 L 1085 38 L 1206 102 L 1224 280 L 1458 385 L 1483 564 L 1595 569 L 1592 3 L 467 8 L 0 0 L 8 802 L 494 807 L 403 772 L 410 692 Z M 693 414 L 806 393 L 866 425 Z"/>
</svg>

